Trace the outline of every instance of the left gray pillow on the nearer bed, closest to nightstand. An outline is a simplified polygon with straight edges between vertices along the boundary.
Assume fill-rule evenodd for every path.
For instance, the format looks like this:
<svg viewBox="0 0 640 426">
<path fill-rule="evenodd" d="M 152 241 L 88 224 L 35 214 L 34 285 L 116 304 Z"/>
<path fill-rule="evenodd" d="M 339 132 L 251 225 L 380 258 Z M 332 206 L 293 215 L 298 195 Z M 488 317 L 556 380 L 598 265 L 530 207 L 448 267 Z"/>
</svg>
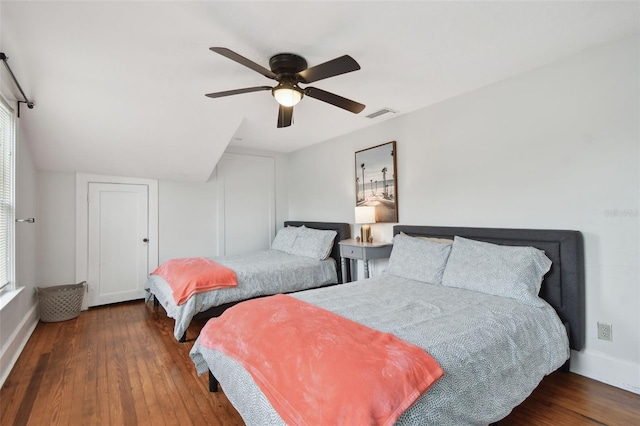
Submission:
<svg viewBox="0 0 640 426">
<path fill-rule="evenodd" d="M 400 278 L 440 284 L 451 244 L 398 234 L 393 238 L 387 273 Z"/>
</svg>

